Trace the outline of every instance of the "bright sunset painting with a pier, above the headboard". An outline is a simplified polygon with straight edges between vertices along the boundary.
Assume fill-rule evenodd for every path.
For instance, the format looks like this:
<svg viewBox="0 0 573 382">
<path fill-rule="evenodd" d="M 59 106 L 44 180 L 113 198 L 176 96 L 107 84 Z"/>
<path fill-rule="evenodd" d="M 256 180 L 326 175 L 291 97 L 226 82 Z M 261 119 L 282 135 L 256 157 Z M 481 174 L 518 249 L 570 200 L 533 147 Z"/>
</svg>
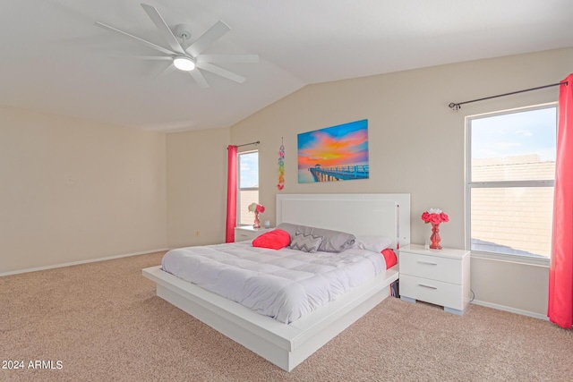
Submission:
<svg viewBox="0 0 573 382">
<path fill-rule="evenodd" d="M 298 134 L 298 183 L 368 179 L 368 120 Z"/>
</svg>

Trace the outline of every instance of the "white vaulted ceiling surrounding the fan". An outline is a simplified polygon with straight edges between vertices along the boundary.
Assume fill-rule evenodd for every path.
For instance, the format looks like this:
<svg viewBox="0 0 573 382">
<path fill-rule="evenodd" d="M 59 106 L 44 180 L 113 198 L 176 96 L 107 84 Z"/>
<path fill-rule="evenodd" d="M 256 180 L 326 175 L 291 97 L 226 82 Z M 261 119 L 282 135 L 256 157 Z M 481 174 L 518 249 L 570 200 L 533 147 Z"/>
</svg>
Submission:
<svg viewBox="0 0 573 382">
<path fill-rule="evenodd" d="M 144 0 L 192 40 L 225 21 L 204 53 L 260 55 L 220 64 L 243 84 L 207 72 L 201 89 L 94 25 L 168 47 L 138 1 L 2 3 L 0 105 L 162 132 L 227 127 L 311 83 L 573 47 L 571 0 Z"/>
</svg>

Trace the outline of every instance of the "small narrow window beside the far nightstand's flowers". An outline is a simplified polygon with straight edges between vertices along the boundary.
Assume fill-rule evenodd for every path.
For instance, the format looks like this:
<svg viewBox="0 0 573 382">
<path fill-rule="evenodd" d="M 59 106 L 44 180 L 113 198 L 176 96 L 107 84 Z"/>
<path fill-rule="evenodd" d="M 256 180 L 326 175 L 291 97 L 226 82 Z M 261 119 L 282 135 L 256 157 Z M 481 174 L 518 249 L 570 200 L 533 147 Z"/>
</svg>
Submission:
<svg viewBox="0 0 573 382">
<path fill-rule="evenodd" d="M 236 219 L 238 225 L 252 225 L 254 215 L 249 212 L 251 203 L 259 202 L 259 151 L 238 154 L 239 191 L 237 192 Z"/>
</svg>

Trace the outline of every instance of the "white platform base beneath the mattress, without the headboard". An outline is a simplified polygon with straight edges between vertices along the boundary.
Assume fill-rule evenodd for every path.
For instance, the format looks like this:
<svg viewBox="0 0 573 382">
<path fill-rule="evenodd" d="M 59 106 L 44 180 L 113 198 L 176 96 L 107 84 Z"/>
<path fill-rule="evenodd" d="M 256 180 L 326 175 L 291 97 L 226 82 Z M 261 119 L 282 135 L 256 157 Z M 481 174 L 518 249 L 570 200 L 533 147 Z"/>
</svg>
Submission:
<svg viewBox="0 0 573 382">
<path fill-rule="evenodd" d="M 160 267 L 145 268 L 143 275 L 157 284 L 157 294 L 162 299 L 279 368 L 291 371 L 387 298 L 389 284 L 398 279 L 398 266 L 371 283 L 346 293 L 344 299 L 330 302 L 290 325 L 187 283 Z"/>
</svg>

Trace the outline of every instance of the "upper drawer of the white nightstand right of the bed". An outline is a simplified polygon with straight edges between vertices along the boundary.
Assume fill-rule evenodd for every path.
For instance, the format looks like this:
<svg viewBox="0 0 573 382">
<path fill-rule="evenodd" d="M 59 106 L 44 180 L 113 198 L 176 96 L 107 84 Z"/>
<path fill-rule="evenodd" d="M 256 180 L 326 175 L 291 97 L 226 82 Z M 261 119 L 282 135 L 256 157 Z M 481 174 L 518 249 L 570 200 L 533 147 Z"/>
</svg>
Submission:
<svg viewBox="0 0 573 382">
<path fill-rule="evenodd" d="M 461 261 L 400 251 L 400 275 L 462 284 Z"/>
</svg>

